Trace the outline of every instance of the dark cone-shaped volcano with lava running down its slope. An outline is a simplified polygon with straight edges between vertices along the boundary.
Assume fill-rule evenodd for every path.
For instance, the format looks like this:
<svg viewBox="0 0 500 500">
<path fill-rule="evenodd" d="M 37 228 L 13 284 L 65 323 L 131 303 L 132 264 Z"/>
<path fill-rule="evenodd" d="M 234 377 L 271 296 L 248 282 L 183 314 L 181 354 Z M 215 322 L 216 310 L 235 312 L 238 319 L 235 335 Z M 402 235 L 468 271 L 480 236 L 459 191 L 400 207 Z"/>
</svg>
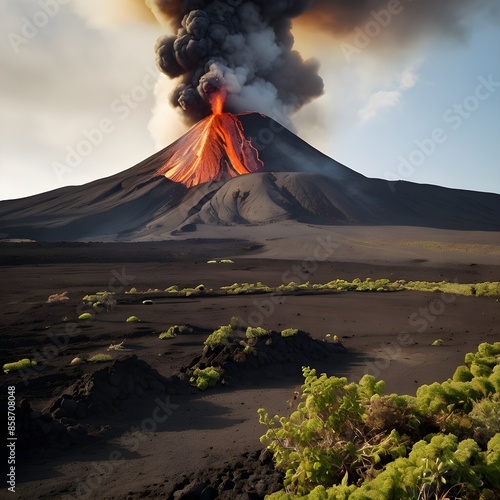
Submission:
<svg viewBox="0 0 500 500">
<path fill-rule="evenodd" d="M 500 230 L 500 195 L 367 178 L 271 118 L 215 113 L 119 174 L 0 202 L 0 237 L 145 240 L 197 224 Z"/>
</svg>

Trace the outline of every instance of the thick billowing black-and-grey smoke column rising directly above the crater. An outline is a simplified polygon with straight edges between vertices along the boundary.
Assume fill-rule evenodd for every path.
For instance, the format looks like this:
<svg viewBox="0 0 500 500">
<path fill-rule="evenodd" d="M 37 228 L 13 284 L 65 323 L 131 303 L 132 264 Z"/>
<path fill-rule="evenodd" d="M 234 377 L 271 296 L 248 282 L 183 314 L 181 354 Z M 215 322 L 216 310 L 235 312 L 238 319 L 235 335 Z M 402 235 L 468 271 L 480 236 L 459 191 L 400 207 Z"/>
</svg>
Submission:
<svg viewBox="0 0 500 500">
<path fill-rule="evenodd" d="M 210 113 L 210 94 L 223 86 L 227 109 L 283 121 L 320 96 L 318 62 L 293 50 L 292 19 L 309 6 L 306 0 L 157 1 L 176 30 L 156 46 L 161 70 L 179 77 L 172 104 L 195 122 Z"/>
</svg>

